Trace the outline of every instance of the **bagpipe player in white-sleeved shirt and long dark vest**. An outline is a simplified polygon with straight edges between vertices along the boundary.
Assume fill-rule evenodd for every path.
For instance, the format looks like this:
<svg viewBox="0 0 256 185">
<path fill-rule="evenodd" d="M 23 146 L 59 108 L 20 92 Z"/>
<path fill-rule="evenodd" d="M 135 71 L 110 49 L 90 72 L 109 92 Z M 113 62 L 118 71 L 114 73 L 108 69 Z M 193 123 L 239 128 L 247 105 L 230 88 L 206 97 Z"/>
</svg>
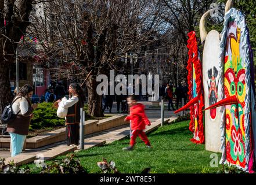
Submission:
<svg viewBox="0 0 256 185">
<path fill-rule="evenodd" d="M 79 145 L 80 108 L 84 107 L 85 94 L 80 84 L 71 83 L 69 88 L 69 99 L 61 101 L 59 106 L 67 108 L 66 116 L 66 140 L 67 146 Z"/>
</svg>

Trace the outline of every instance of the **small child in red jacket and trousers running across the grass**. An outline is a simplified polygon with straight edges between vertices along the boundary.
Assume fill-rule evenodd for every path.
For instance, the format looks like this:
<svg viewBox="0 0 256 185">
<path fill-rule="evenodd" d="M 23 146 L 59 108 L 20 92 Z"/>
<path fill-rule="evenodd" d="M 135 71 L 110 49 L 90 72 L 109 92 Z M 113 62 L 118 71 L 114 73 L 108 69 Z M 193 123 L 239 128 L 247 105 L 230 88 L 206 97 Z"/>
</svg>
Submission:
<svg viewBox="0 0 256 185">
<path fill-rule="evenodd" d="M 145 142 L 147 147 L 151 148 L 149 139 L 147 139 L 145 132 L 143 132 L 143 129 L 146 128 L 146 125 L 150 126 L 150 121 L 147 119 L 145 114 L 144 105 L 137 103 L 135 95 L 129 96 L 127 101 L 128 105 L 130 106 L 130 115 L 125 117 L 124 121 L 131 120 L 132 135 L 130 146 L 124 147 L 122 150 L 132 150 L 135 145 L 137 136 L 139 136 L 139 138 Z"/>
</svg>

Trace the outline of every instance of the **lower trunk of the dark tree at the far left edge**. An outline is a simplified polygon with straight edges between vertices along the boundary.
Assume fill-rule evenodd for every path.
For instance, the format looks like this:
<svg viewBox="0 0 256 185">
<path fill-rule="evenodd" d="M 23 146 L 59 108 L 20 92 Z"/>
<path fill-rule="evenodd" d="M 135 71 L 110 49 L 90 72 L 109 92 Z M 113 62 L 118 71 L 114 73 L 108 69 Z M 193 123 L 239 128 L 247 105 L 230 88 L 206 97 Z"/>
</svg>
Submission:
<svg viewBox="0 0 256 185">
<path fill-rule="evenodd" d="M 0 64 L 0 114 L 3 109 L 11 100 L 10 94 L 10 80 L 9 80 L 10 67 L 6 62 Z"/>
</svg>

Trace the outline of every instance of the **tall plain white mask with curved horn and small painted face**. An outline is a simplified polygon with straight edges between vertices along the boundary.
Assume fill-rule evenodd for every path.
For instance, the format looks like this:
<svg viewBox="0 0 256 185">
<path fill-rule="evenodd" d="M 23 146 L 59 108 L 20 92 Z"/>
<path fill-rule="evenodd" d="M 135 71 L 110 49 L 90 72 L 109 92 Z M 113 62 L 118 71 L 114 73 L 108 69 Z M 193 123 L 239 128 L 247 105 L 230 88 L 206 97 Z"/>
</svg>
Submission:
<svg viewBox="0 0 256 185">
<path fill-rule="evenodd" d="M 219 65 L 219 32 L 211 30 L 207 33 L 207 18 L 212 10 L 203 14 L 200 20 L 200 37 L 203 49 L 203 89 L 204 105 L 211 106 L 221 100 L 221 66 Z M 205 149 L 214 152 L 221 152 L 221 122 L 222 114 L 220 108 L 213 108 L 204 112 L 205 125 Z"/>
</svg>

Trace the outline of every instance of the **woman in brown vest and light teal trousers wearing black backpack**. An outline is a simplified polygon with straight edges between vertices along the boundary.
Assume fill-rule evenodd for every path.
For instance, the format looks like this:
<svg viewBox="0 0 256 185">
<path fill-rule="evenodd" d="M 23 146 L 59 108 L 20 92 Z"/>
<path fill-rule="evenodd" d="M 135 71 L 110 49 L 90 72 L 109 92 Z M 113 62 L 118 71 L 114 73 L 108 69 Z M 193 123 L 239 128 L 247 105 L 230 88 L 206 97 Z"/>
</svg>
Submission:
<svg viewBox="0 0 256 185">
<path fill-rule="evenodd" d="M 21 153 L 24 140 L 28 135 L 28 127 L 33 118 L 33 111 L 37 104 L 32 105 L 30 98 L 33 95 L 33 87 L 24 85 L 12 101 L 13 113 L 17 114 L 15 120 L 7 124 L 7 132 L 10 134 L 12 157 Z"/>
</svg>

